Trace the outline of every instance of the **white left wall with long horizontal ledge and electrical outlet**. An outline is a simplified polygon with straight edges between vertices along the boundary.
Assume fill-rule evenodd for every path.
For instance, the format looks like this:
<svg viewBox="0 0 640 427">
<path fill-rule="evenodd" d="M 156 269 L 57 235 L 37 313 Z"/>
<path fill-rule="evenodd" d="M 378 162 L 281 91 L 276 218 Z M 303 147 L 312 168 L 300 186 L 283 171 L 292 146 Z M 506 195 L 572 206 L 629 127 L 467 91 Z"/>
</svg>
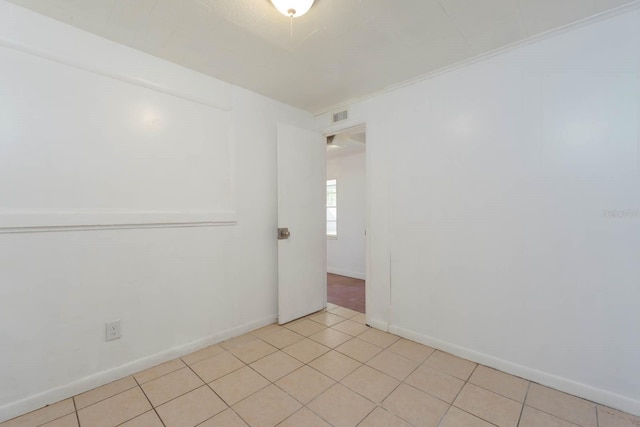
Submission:
<svg viewBox="0 0 640 427">
<path fill-rule="evenodd" d="M 0 421 L 275 320 L 276 124 L 308 113 L 4 1 L 0 64 Z"/>
</svg>

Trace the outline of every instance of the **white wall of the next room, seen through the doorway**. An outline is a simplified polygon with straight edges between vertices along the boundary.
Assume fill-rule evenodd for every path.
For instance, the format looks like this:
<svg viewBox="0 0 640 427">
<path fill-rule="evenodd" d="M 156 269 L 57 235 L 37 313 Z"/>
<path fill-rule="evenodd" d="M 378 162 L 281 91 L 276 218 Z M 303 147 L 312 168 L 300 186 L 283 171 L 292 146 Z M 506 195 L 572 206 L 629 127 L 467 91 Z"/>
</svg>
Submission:
<svg viewBox="0 0 640 427">
<path fill-rule="evenodd" d="M 327 239 L 327 271 L 365 278 L 365 153 L 327 158 L 327 179 L 338 180 L 338 238 Z"/>
</svg>

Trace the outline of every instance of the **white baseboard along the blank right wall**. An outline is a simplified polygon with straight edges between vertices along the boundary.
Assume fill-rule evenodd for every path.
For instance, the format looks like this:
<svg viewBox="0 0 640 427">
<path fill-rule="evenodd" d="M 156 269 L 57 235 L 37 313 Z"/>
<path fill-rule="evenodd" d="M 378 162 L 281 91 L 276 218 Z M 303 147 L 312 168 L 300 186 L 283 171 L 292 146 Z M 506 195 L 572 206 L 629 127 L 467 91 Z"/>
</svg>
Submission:
<svg viewBox="0 0 640 427">
<path fill-rule="evenodd" d="M 373 326 L 373 325 L 371 325 Z M 628 412 L 633 415 L 640 415 L 640 400 L 635 400 L 627 396 L 622 396 L 607 390 L 599 389 L 587 384 L 579 383 L 568 378 L 560 377 L 527 366 L 512 363 L 507 360 L 499 359 L 485 353 L 480 353 L 465 347 L 461 347 L 447 341 L 422 335 L 417 332 L 400 328 L 398 326 L 389 325 L 389 332 L 403 338 L 419 342 L 429 347 L 437 348 L 442 351 L 454 354 L 459 357 L 480 363 L 512 375 L 516 375 L 530 381 L 552 387 L 556 390 L 582 397 L 584 399 L 610 406 L 620 411 Z"/>
</svg>

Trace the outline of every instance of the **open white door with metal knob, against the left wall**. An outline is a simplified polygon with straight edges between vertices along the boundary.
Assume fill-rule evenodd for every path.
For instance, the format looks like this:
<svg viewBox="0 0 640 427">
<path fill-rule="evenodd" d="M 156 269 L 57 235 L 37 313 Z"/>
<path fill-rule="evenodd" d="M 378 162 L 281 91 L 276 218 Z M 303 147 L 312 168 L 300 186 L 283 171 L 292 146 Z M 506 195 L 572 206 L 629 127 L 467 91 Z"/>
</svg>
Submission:
<svg viewBox="0 0 640 427">
<path fill-rule="evenodd" d="M 326 145 L 318 132 L 278 125 L 278 322 L 327 305 Z M 286 233 L 285 233 L 286 234 Z"/>
</svg>

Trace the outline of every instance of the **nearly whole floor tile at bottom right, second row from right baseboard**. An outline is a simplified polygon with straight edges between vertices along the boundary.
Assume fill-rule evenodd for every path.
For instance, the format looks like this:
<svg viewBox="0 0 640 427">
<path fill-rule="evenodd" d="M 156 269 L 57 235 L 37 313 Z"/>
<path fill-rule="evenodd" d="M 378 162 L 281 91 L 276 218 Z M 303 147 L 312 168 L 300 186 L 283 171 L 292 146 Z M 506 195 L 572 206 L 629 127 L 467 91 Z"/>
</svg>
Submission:
<svg viewBox="0 0 640 427">
<path fill-rule="evenodd" d="M 469 383 L 453 405 L 499 427 L 516 427 L 522 412 L 521 403 Z"/>
</svg>

